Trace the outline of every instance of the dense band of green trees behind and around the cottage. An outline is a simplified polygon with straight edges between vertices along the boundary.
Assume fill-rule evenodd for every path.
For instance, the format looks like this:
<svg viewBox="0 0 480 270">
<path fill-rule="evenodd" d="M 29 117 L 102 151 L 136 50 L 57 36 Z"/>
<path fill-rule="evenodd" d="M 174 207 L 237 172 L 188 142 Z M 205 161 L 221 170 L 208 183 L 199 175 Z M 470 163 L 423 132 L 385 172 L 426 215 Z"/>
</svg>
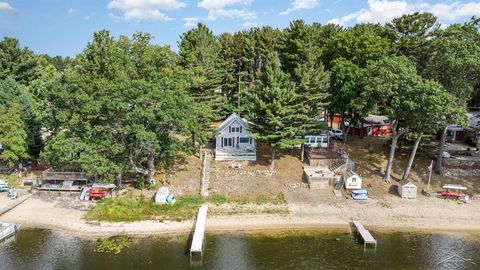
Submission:
<svg viewBox="0 0 480 270">
<path fill-rule="evenodd" d="M 236 111 L 272 147 L 273 168 L 275 150 L 317 133 L 325 111 L 342 116 L 345 137 L 376 113 L 394 130 L 389 180 L 402 135 L 417 138 L 413 162 L 424 134 L 443 130 L 444 141 L 448 124 L 465 124 L 480 85 L 479 25 L 472 18 L 441 28 L 433 15 L 415 13 L 386 25 L 299 20 L 215 36 L 198 24 L 181 35 L 178 53 L 147 33 L 115 39 L 104 30 L 73 59 L 36 56 L 5 38 L 0 107 L 10 116 L 0 116 L 0 127 L 14 122 L 23 132 L 0 130 L 3 159 L 41 155 L 54 168 L 73 164 L 118 180 L 134 171 L 154 181 L 156 166 L 205 144 L 212 123 Z M 50 133 L 45 147 L 40 127 Z"/>
</svg>

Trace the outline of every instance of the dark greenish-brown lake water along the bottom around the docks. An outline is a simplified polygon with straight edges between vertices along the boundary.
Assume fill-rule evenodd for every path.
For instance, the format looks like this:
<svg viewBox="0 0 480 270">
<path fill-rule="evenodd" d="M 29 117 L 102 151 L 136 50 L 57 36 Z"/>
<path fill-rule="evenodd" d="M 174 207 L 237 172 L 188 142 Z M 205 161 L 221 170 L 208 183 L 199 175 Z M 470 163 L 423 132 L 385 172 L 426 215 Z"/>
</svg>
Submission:
<svg viewBox="0 0 480 270">
<path fill-rule="evenodd" d="M 23 229 L 0 243 L 0 269 L 480 269 L 478 236 L 376 233 L 376 251 L 342 231 L 207 233 L 201 266 L 188 236 L 135 238 L 119 255 L 97 240 Z"/>
</svg>

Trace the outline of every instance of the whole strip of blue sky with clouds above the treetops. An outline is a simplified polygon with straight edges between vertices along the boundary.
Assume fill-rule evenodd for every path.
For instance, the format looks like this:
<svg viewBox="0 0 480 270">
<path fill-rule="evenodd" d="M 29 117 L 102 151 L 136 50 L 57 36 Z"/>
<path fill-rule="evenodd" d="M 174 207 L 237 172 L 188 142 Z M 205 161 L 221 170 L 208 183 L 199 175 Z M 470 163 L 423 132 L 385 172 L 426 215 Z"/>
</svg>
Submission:
<svg viewBox="0 0 480 270">
<path fill-rule="evenodd" d="M 285 28 L 294 19 L 384 23 L 415 11 L 432 12 L 448 25 L 480 17 L 480 1 L 0 0 L 0 37 L 16 37 L 35 53 L 74 56 L 101 29 L 115 36 L 149 32 L 154 43 L 176 49 L 179 36 L 197 22 L 219 34 L 252 26 Z"/>
</svg>

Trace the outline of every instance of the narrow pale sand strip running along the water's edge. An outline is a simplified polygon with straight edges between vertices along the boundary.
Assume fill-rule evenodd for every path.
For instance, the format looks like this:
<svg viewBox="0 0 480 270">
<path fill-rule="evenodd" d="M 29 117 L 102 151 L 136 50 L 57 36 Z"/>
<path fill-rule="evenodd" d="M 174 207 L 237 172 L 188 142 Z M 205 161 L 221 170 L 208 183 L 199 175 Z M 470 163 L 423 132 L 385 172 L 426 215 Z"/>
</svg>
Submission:
<svg viewBox="0 0 480 270">
<path fill-rule="evenodd" d="M 206 231 L 208 233 L 230 232 L 264 232 L 290 230 L 345 230 L 349 231 L 349 222 L 358 219 L 369 230 L 374 232 L 426 232 L 447 234 L 480 234 L 480 202 L 471 205 L 450 205 L 451 209 L 439 205 L 450 217 L 436 216 L 435 211 L 423 204 L 425 211 L 403 213 L 405 209 L 385 209 L 370 204 L 356 204 L 357 209 L 345 211 L 346 206 L 321 205 L 289 205 L 287 215 L 248 214 L 216 216 L 209 215 Z M 442 201 L 440 201 L 440 204 Z M 406 203 L 405 203 L 406 204 Z M 422 205 L 422 204 L 421 204 Z M 31 198 L 10 212 L 0 217 L 1 221 L 22 224 L 24 228 L 40 228 L 58 231 L 82 238 L 105 238 L 116 235 L 152 236 L 191 233 L 194 221 L 137 221 L 137 222 L 96 222 L 83 219 L 89 204 L 80 208 L 59 206 L 56 200 Z M 211 206 L 215 209 L 215 205 Z M 422 208 L 417 207 L 417 208 Z M 455 209 L 455 208 L 458 209 Z M 468 208 L 467 208 L 468 207 Z M 302 209 L 299 211 L 297 208 Z M 363 212 L 358 212 L 363 209 Z M 368 209 L 368 211 L 366 211 Z M 418 209 L 417 209 L 418 210 Z M 305 215 L 306 213 L 306 215 Z M 353 213 L 353 214 L 352 214 Z M 420 213 L 420 214 L 419 214 Z"/>
</svg>

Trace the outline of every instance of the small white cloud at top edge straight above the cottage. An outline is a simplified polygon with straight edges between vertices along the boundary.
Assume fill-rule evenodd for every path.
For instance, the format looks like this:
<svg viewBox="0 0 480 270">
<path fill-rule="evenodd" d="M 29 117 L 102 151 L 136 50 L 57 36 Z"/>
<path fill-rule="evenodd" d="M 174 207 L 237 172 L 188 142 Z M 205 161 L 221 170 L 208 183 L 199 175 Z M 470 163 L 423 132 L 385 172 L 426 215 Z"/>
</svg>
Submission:
<svg viewBox="0 0 480 270">
<path fill-rule="evenodd" d="M 257 17 L 255 12 L 248 11 L 245 8 L 252 2 L 253 0 L 202 0 L 198 3 L 198 6 L 208 10 L 207 19 L 211 21 L 220 18 L 241 18 L 247 20 Z M 231 8 L 231 6 L 241 6 L 242 8 Z"/>
</svg>

